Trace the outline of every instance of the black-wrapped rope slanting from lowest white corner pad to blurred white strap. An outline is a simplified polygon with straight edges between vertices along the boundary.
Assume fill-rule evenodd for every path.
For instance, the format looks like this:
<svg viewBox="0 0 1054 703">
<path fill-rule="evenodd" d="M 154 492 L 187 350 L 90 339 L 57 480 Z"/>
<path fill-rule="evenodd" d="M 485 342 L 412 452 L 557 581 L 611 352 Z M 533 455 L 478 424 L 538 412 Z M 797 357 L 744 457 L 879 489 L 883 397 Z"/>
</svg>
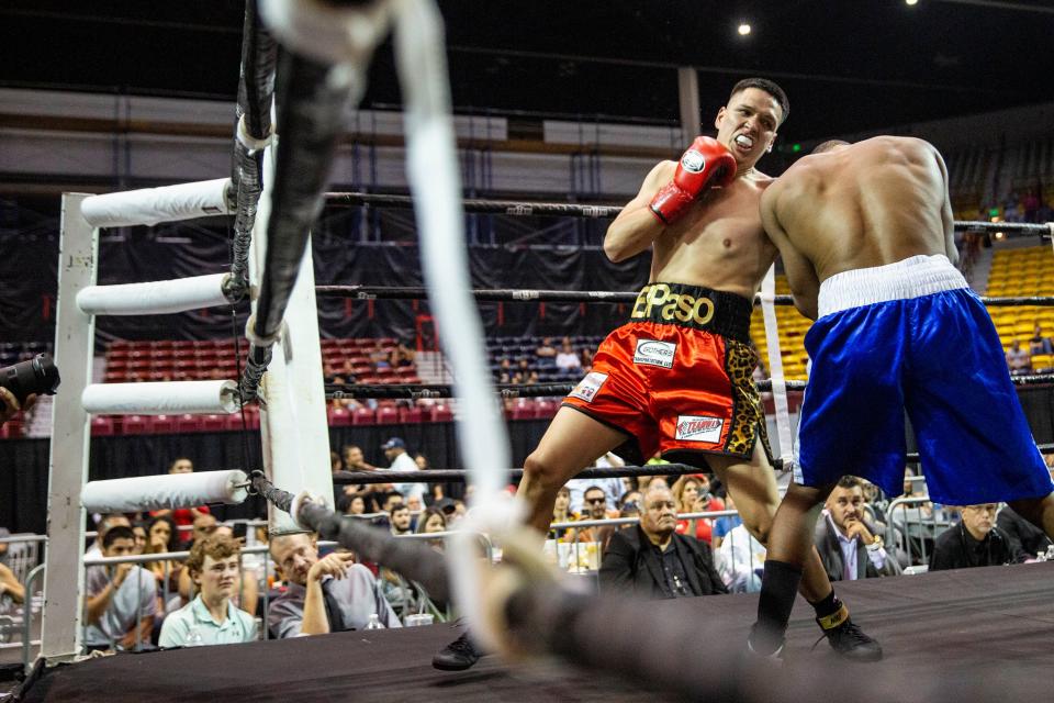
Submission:
<svg viewBox="0 0 1054 703">
<path fill-rule="evenodd" d="M 277 488 L 261 471 L 254 471 L 253 489 L 279 510 L 292 514 L 293 494 Z M 386 529 L 354 518 L 344 520 L 324 505 L 310 501 L 301 503 L 300 513 L 293 515 L 293 520 L 318 533 L 323 539 L 332 539 L 354 550 L 359 558 L 383 563 L 421 583 L 429 596 L 440 601 L 450 599 L 446 561 L 425 543 L 396 539 Z"/>
</svg>

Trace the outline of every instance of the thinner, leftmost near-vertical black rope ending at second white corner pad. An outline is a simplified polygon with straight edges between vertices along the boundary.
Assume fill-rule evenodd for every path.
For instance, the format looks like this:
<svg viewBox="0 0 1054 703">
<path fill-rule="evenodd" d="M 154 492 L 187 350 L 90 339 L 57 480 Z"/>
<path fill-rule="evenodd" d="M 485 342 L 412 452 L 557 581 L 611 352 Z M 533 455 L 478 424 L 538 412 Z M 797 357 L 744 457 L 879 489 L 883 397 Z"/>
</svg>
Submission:
<svg viewBox="0 0 1054 703">
<path fill-rule="evenodd" d="M 224 292 L 234 302 L 249 290 L 249 246 L 256 209 L 264 189 L 264 152 L 250 149 L 238 138 L 245 122 L 248 135 L 258 142 L 271 133 L 271 102 L 274 97 L 274 63 L 278 45 L 259 21 L 256 0 L 245 3 L 242 40 L 242 76 L 235 110 L 234 164 L 231 182 L 235 193 L 234 244 L 231 278 Z"/>
</svg>

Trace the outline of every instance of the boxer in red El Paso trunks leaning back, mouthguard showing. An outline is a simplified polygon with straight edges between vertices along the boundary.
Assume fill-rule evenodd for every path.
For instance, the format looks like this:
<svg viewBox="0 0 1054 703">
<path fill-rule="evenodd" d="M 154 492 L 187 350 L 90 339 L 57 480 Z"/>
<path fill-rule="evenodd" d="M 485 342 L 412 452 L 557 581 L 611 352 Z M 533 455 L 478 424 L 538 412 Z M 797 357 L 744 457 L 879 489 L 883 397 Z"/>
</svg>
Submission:
<svg viewBox="0 0 1054 703">
<path fill-rule="evenodd" d="M 717 113 L 717 137 L 697 137 L 680 161 L 652 168 L 608 227 L 604 250 L 613 261 L 651 249 L 650 282 L 524 462 L 519 494 L 536 529 L 549 529 L 560 487 L 614 450 L 635 464 L 661 454 L 711 470 L 747 528 L 766 542 L 780 495 L 749 330 L 754 293 L 776 247 L 759 211 L 772 179 L 754 164 L 772 149 L 787 112 L 774 82 L 738 82 Z M 815 550 L 800 591 L 836 650 L 881 656 L 877 643 L 839 615 L 844 606 Z M 478 657 L 462 637 L 433 665 L 464 669 Z"/>
</svg>

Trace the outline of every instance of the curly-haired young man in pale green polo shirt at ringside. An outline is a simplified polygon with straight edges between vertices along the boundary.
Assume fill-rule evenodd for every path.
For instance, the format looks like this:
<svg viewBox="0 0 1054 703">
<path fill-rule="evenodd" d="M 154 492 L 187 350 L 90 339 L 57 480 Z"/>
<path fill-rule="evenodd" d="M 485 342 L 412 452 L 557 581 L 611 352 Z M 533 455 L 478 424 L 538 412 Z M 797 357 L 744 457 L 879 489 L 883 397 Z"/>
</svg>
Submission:
<svg viewBox="0 0 1054 703">
<path fill-rule="evenodd" d="M 235 607 L 232 596 L 240 581 L 238 543 L 213 534 L 194 543 L 187 558 L 187 572 L 198 595 L 165 617 L 161 647 L 229 645 L 256 639 L 256 618 Z"/>
</svg>

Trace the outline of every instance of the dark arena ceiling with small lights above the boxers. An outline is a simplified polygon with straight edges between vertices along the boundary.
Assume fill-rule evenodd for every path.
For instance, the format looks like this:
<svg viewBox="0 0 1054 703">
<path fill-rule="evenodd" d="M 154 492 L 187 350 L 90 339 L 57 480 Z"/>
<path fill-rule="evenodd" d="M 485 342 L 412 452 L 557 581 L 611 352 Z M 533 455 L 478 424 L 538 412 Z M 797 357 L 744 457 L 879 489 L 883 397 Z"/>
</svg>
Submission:
<svg viewBox="0 0 1054 703">
<path fill-rule="evenodd" d="M 798 141 L 1054 100 L 1051 0 L 440 0 L 455 103 L 677 119 L 676 66 L 704 114 L 739 78 L 776 79 Z M 3 0 L 0 85 L 232 99 L 242 0 Z M 747 22 L 750 34 L 737 29 Z M 400 101 L 390 46 L 368 105 Z M 2 105 L 0 105 L 2 112 Z"/>
</svg>

